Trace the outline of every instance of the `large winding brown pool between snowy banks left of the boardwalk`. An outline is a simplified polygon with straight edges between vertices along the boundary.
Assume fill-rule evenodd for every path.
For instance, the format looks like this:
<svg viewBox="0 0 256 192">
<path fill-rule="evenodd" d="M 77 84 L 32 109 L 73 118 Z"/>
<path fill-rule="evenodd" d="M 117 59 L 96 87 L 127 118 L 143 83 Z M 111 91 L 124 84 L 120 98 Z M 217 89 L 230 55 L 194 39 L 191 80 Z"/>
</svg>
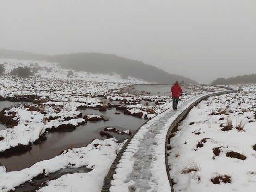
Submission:
<svg viewBox="0 0 256 192">
<path fill-rule="evenodd" d="M 0 102 L 1 103 L 1 102 Z M 132 117 L 125 114 L 114 114 L 116 109 L 110 109 L 100 112 L 95 109 L 81 110 L 83 115 L 98 114 L 109 118 L 109 121 L 87 122 L 83 126 L 77 127 L 73 131 L 49 132 L 47 140 L 40 144 L 33 145 L 32 150 L 21 155 L 14 155 L 8 158 L 0 157 L 0 162 L 8 171 L 18 171 L 28 168 L 36 162 L 51 159 L 60 154 L 61 151 L 67 149 L 69 145 L 74 148 L 85 147 L 90 144 L 94 138 L 105 139 L 99 135 L 105 127 L 115 127 L 119 130 L 131 130 L 134 132 L 146 120 Z M 122 111 L 120 111 L 122 113 Z M 113 135 L 113 133 L 109 132 Z M 118 140 L 126 139 L 126 135 L 114 135 Z"/>
</svg>

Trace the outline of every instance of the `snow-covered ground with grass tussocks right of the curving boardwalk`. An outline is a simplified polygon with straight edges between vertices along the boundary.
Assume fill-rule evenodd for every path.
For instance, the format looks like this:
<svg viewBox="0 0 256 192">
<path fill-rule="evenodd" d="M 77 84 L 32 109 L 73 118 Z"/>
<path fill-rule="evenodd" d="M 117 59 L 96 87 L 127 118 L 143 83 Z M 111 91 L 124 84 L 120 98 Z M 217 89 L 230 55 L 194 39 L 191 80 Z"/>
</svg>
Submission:
<svg viewBox="0 0 256 192">
<path fill-rule="evenodd" d="M 168 150 L 176 192 L 256 191 L 255 88 L 245 85 L 246 91 L 210 97 L 180 123 Z M 231 130 L 223 131 L 227 124 Z M 242 159 L 229 157 L 232 151 Z"/>
</svg>

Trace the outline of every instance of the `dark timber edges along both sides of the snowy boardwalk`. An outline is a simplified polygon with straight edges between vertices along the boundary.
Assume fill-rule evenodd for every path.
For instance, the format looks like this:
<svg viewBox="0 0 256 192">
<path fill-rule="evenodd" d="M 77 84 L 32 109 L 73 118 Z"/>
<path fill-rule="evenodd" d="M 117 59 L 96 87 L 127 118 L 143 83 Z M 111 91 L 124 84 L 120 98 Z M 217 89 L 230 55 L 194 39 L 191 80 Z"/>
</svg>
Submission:
<svg viewBox="0 0 256 192">
<path fill-rule="evenodd" d="M 213 85 L 215 86 L 215 85 Z M 221 88 L 225 88 L 226 91 L 219 91 L 219 92 L 212 92 L 209 93 L 207 95 L 201 96 L 199 99 L 197 99 L 195 102 L 193 102 L 191 105 L 189 105 L 188 108 L 185 108 L 183 110 L 183 112 L 181 114 L 179 114 L 179 116 L 172 122 L 171 126 L 169 127 L 169 130 L 167 132 L 166 138 L 165 138 L 165 166 L 166 166 L 166 173 L 167 173 L 167 177 L 171 186 L 171 192 L 174 192 L 173 186 L 172 186 L 172 181 L 171 181 L 171 176 L 169 174 L 169 166 L 168 166 L 168 158 L 167 158 L 167 144 L 170 142 L 170 134 L 172 132 L 172 130 L 178 125 L 178 122 L 180 122 L 181 120 L 183 120 L 186 115 L 189 113 L 189 111 L 196 106 L 198 103 L 200 103 L 202 100 L 207 100 L 208 97 L 211 96 L 219 96 L 219 95 L 223 95 L 223 94 L 229 94 L 229 93 L 235 93 L 238 92 L 237 89 L 232 89 L 230 87 L 224 87 L 224 86 L 216 86 L 216 87 L 221 87 Z M 170 108 L 168 108 L 170 109 Z M 168 110 L 166 109 L 166 110 Z M 166 111 L 165 110 L 165 111 Z M 164 112 L 164 111 L 163 111 Z M 163 113 L 162 112 L 162 113 Z M 154 118 L 154 117 L 153 117 Z M 152 119 L 153 119 L 152 118 Z M 148 122 L 148 121 L 146 121 Z M 145 122 L 145 123 L 146 123 Z M 145 124 L 143 123 L 132 135 L 131 137 L 128 138 L 127 142 L 123 145 L 122 149 L 119 151 L 119 153 L 116 156 L 116 159 L 113 161 L 110 170 L 105 178 L 103 187 L 101 192 L 109 192 L 110 186 L 111 186 L 111 180 L 113 180 L 113 175 L 116 174 L 115 169 L 117 168 L 117 164 L 119 164 L 119 160 L 121 160 L 121 157 L 124 153 L 124 151 L 126 150 L 126 147 L 128 146 L 128 144 L 130 143 L 131 139 L 134 137 L 134 135 L 140 130 L 140 128 Z"/>
</svg>

